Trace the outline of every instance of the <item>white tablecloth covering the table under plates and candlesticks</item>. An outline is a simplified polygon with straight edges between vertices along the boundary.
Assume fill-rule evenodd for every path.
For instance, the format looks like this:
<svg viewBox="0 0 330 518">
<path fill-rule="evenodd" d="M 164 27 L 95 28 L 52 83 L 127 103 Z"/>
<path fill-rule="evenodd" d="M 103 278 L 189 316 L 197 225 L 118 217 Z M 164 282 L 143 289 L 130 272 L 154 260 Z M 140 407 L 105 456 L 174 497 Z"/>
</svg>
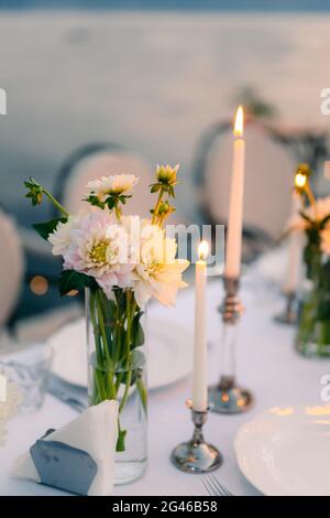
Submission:
<svg viewBox="0 0 330 518">
<path fill-rule="evenodd" d="M 206 439 L 217 445 L 224 463 L 217 472 L 219 479 L 234 495 L 257 495 L 241 475 L 233 450 L 233 440 L 241 424 L 274 406 L 320 404 L 320 379 L 330 374 L 329 360 L 310 360 L 298 356 L 293 347 L 294 328 L 273 321 L 280 301 L 272 299 L 265 290 L 242 289 L 246 314 L 242 319 L 238 346 L 238 378 L 255 396 L 254 408 L 242 416 L 210 414 L 205 427 Z M 209 284 L 208 328 L 210 338 L 210 381 L 219 376 L 220 319 L 216 312 L 222 298 L 220 281 Z M 193 326 L 194 293 L 182 292 L 177 307 L 165 310 L 153 306 L 150 319 L 162 315 L 170 322 Z M 152 347 L 153 344 L 150 344 Z M 191 344 L 193 354 L 193 344 Z M 173 358 L 175 361 L 175 358 Z M 193 425 L 185 408 L 190 396 L 190 380 L 150 393 L 150 449 L 146 475 L 127 486 L 117 487 L 114 495 L 205 495 L 198 475 L 177 471 L 169 462 L 172 449 L 190 438 Z M 10 477 L 14 458 L 26 451 L 47 429 L 59 428 L 76 416 L 74 410 L 46 397 L 43 408 L 33 414 L 20 414 L 8 425 L 7 444 L 0 447 L 0 495 L 64 495 L 38 484 Z"/>
</svg>

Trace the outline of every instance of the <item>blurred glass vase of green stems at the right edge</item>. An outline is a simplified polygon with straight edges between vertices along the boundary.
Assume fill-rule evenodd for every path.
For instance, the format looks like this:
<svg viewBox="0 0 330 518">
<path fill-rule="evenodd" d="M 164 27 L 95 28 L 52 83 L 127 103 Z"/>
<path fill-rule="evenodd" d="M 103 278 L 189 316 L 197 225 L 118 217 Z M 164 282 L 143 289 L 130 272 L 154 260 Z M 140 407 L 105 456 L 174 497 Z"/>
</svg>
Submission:
<svg viewBox="0 0 330 518">
<path fill-rule="evenodd" d="M 296 349 L 307 357 L 330 357 L 330 271 L 320 260 L 308 277 L 299 303 Z"/>
</svg>

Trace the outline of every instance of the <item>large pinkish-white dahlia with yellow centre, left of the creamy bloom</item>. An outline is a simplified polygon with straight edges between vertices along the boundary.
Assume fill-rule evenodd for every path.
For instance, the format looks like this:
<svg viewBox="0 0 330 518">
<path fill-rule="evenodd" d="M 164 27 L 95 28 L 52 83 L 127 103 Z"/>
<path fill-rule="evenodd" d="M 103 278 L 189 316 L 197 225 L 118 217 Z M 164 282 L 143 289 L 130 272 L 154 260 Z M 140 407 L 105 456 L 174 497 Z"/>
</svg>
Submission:
<svg viewBox="0 0 330 518">
<path fill-rule="evenodd" d="M 112 287 L 132 283 L 129 235 L 108 209 L 80 213 L 70 227 L 70 244 L 63 251 L 64 268 L 94 277 L 110 296 Z"/>
</svg>

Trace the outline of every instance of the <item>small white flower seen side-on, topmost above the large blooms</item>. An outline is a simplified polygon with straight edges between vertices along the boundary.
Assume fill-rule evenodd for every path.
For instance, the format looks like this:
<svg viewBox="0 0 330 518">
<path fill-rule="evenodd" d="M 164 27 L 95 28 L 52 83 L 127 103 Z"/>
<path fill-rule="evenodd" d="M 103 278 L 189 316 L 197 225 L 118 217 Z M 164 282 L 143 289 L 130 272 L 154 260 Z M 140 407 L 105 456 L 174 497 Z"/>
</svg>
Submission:
<svg viewBox="0 0 330 518">
<path fill-rule="evenodd" d="M 127 194 L 136 185 L 139 177 L 134 174 L 114 174 L 111 176 L 101 176 L 98 180 L 88 182 L 89 194 L 98 197 L 100 202 L 111 194 Z"/>
</svg>

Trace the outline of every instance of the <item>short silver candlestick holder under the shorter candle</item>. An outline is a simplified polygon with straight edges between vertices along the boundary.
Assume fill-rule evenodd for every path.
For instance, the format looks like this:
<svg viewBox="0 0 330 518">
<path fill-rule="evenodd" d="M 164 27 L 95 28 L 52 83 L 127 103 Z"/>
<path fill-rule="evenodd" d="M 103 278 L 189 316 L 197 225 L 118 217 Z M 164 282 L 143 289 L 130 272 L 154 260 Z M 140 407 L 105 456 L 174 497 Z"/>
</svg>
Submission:
<svg viewBox="0 0 330 518">
<path fill-rule="evenodd" d="M 198 412 L 193 409 L 191 401 L 186 402 L 187 407 L 191 410 L 191 418 L 194 422 L 194 434 L 190 441 L 183 442 L 176 446 L 170 455 L 173 464 L 186 473 L 209 473 L 222 464 L 222 455 L 204 440 L 202 427 L 207 421 L 208 410 Z"/>
</svg>

